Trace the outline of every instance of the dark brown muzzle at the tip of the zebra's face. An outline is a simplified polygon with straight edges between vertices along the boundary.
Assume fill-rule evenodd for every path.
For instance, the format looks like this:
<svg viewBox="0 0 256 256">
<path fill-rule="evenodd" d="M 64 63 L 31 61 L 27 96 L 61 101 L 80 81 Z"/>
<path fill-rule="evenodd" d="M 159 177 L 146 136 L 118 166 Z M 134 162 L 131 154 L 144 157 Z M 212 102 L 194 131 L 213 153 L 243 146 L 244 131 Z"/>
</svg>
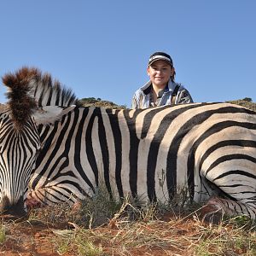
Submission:
<svg viewBox="0 0 256 256">
<path fill-rule="evenodd" d="M 24 217 L 26 215 L 26 211 L 24 209 L 23 197 L 20 196 L 19 201 L 12 204 L 10 203 L 9 198 L 4 196 L 0 203 L 0 212 L 3 214 L 3 216 L 10 216 L 13 218 Z"/>
</svg>

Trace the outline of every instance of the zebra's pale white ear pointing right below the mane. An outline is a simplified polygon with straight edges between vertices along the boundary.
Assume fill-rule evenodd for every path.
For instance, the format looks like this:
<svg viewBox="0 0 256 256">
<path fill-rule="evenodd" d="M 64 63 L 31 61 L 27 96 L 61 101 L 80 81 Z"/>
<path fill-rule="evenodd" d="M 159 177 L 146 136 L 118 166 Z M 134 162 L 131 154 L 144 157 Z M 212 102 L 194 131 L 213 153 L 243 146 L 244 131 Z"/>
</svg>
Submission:
<svg viewBox="0 0 256 256">
<path fill-rule="evenodd" d="M 38 108 L 32 117 L 36 122 L 36 125 L 51 125 L 55 121 L 60 120 L 62 116 L 73 110 L 76 106 L 70 106 L 68 108 L 63 108 L 59 106 L 45 106 L 43 108 Z"/>
</svg>

